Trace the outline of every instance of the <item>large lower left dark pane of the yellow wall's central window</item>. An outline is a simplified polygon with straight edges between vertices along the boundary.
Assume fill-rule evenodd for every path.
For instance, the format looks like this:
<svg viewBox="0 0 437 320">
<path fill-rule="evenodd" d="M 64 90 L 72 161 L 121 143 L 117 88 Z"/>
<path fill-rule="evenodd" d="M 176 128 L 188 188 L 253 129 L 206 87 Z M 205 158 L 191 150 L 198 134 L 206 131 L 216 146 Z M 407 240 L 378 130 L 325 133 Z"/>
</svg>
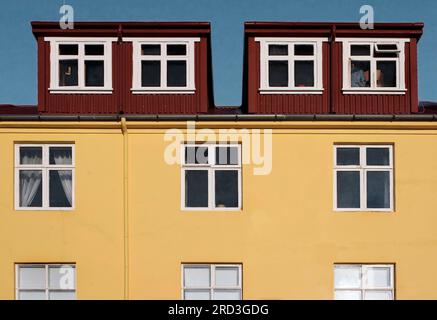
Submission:
<svg viewBox="0 0 437 320">
<path fill-rule="evenodd" d="M 185 206 L 191 208 L 208 207 L 208 171 L 185 171 Z"/>
</svg>

